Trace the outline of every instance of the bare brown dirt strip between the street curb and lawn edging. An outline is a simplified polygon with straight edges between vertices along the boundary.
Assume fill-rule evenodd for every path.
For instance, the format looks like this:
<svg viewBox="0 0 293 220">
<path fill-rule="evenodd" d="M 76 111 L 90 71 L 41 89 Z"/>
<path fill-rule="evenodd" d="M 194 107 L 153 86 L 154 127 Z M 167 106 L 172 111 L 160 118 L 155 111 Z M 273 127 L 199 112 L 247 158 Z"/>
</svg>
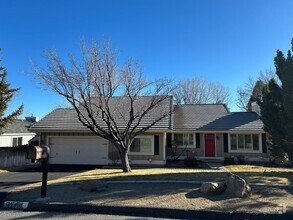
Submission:
<svg viewBox="0 0 293 220">
<path fill-rule="evenodd" d="M 49 203 L 159 207 L 190 210 L 278 213 L 293 211 L 292 187 L 252 187 L 252 196 L 231 198 L 223 193 L 203 195 L 199 185 L 182 183 L 108 184 L 100 192 L 85 192 L 80 184 L 49 186 Z M 11 192 L 6 200 L 34 201 L 40 188 Z"/>
</svg>

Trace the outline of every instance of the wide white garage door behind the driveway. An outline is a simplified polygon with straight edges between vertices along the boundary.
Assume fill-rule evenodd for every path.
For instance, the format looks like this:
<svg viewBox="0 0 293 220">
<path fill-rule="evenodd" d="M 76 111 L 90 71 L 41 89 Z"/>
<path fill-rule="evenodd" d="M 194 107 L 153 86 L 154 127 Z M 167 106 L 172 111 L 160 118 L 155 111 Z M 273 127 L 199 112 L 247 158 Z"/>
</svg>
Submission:
<svg viewBox="0 0 293 220">
<path fill-rule="evenodd" d="M 49 137 L 50 164 L 108 164 L 108 141 L 99 137 Z"/>
</svg>

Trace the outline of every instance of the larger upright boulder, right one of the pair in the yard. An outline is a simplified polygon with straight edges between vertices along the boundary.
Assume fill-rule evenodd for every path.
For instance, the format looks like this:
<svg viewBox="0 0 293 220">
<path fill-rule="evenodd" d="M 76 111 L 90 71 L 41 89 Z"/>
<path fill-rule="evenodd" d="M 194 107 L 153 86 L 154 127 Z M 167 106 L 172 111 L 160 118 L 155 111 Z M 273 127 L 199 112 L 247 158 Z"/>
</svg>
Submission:
<svg viewBox="0 0 293 220">
<path fill-rule="evenodd" d="M 246 181 L 232 173 L 228 173 L 226 177 L 226 192 L 233 197 L 246 197 L 251 195 L 251 188 Z"/>
</svg>

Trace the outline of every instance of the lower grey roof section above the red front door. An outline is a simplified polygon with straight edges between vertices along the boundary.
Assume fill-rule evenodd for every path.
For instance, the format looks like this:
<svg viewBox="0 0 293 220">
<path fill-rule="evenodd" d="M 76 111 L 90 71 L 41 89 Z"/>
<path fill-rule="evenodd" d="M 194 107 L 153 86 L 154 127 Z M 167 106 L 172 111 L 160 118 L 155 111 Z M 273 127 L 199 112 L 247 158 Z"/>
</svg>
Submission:
<svg viewBox="0 0 293 220">
<path fill-rule="evenodd" d="M 262 131 L 254 112 L 228 112 L 224 105 L 183 105 L 174 113 L 174 130 Z"/>
</svg>

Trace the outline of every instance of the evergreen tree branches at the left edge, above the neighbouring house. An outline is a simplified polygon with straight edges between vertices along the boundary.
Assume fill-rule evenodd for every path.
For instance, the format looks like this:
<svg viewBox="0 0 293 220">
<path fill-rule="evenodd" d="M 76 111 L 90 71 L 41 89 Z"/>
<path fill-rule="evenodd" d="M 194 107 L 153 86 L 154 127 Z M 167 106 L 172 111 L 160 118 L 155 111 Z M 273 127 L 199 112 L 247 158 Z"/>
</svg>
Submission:
<svg viewBox="0 0 293 220">
<path fill-rule="evenodd" d="M 1 49 L 0 49 L 1 50 Z M 2 60 L 0 59 L 0 62 Z M 7 123 L 12 122 L 19 116 L 22 112 L 23 105 L 21 105 L 16 111 L 9 115 L 5 115 L 8 108 L 8 104 L 14 97 L 15 93 L 19 89 L 11 89 L 10 84 L 6 81 L 7 70 L 0 65 L 0 133 L 2 133 L 3 128 Z"/>
</svg>

